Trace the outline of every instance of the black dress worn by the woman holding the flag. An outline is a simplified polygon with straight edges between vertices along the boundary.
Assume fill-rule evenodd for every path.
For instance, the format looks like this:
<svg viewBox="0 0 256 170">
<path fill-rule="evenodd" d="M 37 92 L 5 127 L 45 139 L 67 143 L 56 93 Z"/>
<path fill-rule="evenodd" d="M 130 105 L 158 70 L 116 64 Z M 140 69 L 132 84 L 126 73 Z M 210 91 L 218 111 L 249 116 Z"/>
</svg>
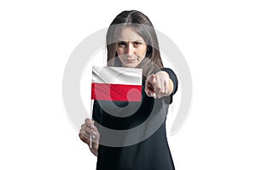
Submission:
<svg viewBox="0 0 256 170">
<path fill-rule="evenodd" d="M 93 119 L 96 122 L 99 133 L 101 134 L 100 145 L 97 156 L 97 170 L 174 170 L 172 155 L 166 139 L 166 114 L 168 106 L 172 104 L 172 95 L 177 91 L 177 77 L 175 73 L 168 68 L 162 69 L 169 74 L 174 84 L 173 93 L 170 96 L 154 99 L 148 97 L 144 93 L 142 102 L 137 104 L 129 104 L 128 102 L 114 102 L 118 107 L 126 105 L 139 105 L 134 114 L 130 116 L 114 116 L 106 111 L 104 105 L 108 105 L 108 101 L 95 101 L 93 108 Z M 144 82 L 143 82 L 144 85 Z M 124 111 L 115 114 L 125 114 Z M 148 119 L 150 119 L 148 121 Z M 152 127 L 155 119 L 159 119 L 157 124 Z M 101 142 L 105 139 L 116 140 L 119 136 L 113 138 L 108 133 L 102 131 L 102 127 L 108 127 L 115 130 L 126 130 L 144 125 L 140 129 L 140 134 L 145 135 L 145 139 L 137 144 L 127 146 L 103 145 Z M 147 122 L 147 123 L 145 123 Z M 99 123 L 102 127 L 99 127 Z M 153 123 L 154 124 L 154 123 Z M 151 126 L 151 127 L 150 127 Z M 154 132 L 147 136 L 145 133 L 148 129 L 155 129 Z M 133 138 L 133 137 L 131 137 Z M 137 138 L 136 136 L 134 138 Z"/>
</svg>

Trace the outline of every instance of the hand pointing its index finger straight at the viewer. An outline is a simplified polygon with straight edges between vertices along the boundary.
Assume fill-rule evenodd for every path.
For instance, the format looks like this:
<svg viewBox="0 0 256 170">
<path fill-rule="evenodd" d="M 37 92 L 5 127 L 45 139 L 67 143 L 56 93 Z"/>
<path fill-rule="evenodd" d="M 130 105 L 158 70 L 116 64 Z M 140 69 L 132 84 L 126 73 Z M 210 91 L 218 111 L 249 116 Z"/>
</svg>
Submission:
<svg viewBox="0 0 256 170">
<path fill-rule="evenodd" d="M 173 82 L 166 71 L 149 75 L 145 82 L 145 93 L 154 99 L 172 94 Z"/>
</svg>

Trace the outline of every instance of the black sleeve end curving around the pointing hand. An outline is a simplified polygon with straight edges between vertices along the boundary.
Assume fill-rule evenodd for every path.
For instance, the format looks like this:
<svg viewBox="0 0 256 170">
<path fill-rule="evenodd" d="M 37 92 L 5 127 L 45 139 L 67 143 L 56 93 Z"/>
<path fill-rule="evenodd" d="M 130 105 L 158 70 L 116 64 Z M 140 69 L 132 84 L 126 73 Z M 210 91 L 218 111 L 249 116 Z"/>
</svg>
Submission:
<svg viewBox="0 0 256 170">
<path fill-rule="evenodd" d="M 166 71 L 168 73 L 170 79 L 172 80 L 172 83 L 173 83 L 172 94 L 165 97 L 166 104 L 170 105 L 170 104 L 172 104 L 172 96 L 173 96 L 173 94 L 176 94 L 176 92 L 177 92 L 177 83 L 178 83 L 177 82 L 177 76 L 174 73 L 174 71 L 172 71 L 172 69 L 169 69 L 169 68 L 162 68 L 161 71 Z"/>
</svg>

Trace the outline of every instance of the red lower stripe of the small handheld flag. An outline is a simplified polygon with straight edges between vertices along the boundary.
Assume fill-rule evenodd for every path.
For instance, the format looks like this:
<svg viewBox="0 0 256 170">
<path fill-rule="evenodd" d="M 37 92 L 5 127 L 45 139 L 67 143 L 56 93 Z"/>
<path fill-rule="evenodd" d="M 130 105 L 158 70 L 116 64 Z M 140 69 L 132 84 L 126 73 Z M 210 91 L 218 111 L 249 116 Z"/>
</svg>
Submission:
<svg viewBox="0 0 256 170">
<path fill-rule="evenodd" d="M 139 102 L 141 97 L 141 85 L 91 83 L 91 99 Z"/>
</svg>

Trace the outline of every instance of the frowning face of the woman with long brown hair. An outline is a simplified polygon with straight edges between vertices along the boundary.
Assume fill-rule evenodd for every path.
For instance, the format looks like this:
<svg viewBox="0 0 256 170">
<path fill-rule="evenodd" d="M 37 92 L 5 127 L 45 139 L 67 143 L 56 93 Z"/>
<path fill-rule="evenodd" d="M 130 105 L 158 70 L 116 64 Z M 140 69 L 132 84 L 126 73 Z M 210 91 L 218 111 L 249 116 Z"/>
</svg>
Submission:
<svg viewBox="0 0 256 170">
<path fill-rule="evenodd" d="M 116 52 L 124 67 L 136 67 L 146 56 L 147 44 L 143 37 L 133 31 L 131 27 L 122 28 Z"/>
</svg>

